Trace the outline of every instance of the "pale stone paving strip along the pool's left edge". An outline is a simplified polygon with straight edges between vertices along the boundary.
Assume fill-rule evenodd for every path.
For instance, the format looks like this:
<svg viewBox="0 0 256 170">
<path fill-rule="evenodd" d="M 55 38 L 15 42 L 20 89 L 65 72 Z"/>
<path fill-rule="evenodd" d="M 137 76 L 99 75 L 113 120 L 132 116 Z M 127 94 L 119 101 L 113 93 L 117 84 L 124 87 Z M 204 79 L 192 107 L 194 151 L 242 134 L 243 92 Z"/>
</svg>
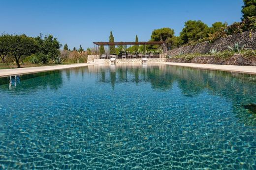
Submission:
<svg viewBox="0 0 256 170">
<path fill-rule="evenodd" d="M 16 68 L 16 69 L 1 69 L 0 77 L 47 72 L 47 71 L 54 71 L 54 70 L 64 70 L 64 69 L 91 66 L 96 64 L 97 63 L 80 63 L 80 64 L 65 64 L 65 65 L 56 65 L 56 66 L 38 66 L 38 67 Z"/>
</svg>

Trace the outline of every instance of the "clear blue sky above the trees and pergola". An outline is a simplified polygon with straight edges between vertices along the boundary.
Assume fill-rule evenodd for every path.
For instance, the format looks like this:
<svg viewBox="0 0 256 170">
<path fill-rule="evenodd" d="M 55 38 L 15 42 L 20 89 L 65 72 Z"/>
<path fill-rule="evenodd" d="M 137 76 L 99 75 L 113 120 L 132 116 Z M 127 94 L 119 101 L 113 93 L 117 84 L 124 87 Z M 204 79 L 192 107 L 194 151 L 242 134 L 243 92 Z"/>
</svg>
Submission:
<svg viewBox="0 0 256 170">
<path fill-rule="evenodd" d="M 70 49 L 94 41 L 148 41 L 156 28 L 175 35 L 188 20 L 232 24 L 242 16 L 243 0 L 0 0 L 0 33 L 53 34 Z"/>
</svg>

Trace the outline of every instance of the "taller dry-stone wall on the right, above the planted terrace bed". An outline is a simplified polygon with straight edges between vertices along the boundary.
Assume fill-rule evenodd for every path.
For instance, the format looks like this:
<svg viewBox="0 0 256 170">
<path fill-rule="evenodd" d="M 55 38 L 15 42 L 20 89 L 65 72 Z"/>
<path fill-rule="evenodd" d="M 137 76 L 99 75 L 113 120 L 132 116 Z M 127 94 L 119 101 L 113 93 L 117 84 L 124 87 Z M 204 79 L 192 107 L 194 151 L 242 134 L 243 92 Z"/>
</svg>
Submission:
<svg viewBox="0 0 256 170">
<path fill-rule="evenodd" d="M 186 47 L 181 47 L 178 49 L 172 49 L 164 52 L 163 54 L 175 56 L 178 55 L 179 52 L 183 51 L 185 54 L 187 53 L 208 53 L 210 49 L 217 49 L 218 51 L 224 51 L 227 46 L 234 46 L 234 43 L 244 44 L 247 49 L 256 49 L 256 31 L 251 32 L 246 31 L 243 33 L 238 33 L 234 35 L 229 35 L 227 37 L 220 38 L 213 43 L 202 42 L 197 45 L 191 45 Z"/>
</svg>

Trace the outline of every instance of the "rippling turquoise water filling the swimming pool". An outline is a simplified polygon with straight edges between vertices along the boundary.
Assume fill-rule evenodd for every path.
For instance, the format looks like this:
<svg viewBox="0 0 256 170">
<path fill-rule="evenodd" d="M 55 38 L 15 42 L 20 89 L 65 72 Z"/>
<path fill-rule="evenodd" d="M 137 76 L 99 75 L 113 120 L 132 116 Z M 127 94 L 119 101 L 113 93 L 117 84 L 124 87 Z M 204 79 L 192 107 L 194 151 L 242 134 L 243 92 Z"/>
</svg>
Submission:
<svg viewBox="0 0 256 170">
<path fill-rule="evenodd" d="M 256 169 L 256 75 L 165 65 L 0 78 L 2 169 Z"/>
</svg>

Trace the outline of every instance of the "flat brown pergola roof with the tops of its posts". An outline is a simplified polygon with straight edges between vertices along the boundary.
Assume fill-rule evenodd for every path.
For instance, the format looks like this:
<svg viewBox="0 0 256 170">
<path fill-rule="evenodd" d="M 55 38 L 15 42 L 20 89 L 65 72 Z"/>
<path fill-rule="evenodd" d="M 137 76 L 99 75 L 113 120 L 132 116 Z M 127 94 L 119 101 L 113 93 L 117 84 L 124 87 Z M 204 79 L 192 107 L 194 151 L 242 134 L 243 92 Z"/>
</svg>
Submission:
<svg viewBox="0 0 256 170">
<path fill-rule="evenodd" d="M 146 49 L 146 45 L 160 45 L 164 46 L 163 41 L 146 41 L 146 42 L 93 42 L 94 47 L 96 45 L 96 52 L 99 51 L 99 46 L 125 46 L 126 53 L 127 53 L 127 46 L 133 46 L 133 45 L 144 45 Z"/>
</svg>

